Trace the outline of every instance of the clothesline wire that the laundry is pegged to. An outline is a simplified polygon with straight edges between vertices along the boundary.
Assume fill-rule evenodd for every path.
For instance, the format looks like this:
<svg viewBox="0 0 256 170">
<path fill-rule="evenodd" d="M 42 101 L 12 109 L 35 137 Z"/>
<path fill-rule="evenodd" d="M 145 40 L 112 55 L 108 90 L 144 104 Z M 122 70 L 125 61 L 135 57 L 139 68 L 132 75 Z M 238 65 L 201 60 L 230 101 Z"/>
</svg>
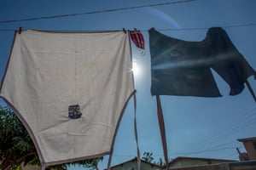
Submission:
<svg viewBox="0 0 256 170">
<path fill-rule="evenodd" d="M 240 25 L 230 25 L 230 26 L 221 26 L 223 28 L 235 28 L 235 27 L 246 27 L 246 26 L 256 26 L 256 23 L 248 23 L 248 24 L 240 24 Z M 167 28 L 167 29 L 155 29 L 157 31 L 193 31 L 193 30 L 207 30 L 209 27 L 194 27 L 194 28 Z M 0 31 L 17 31 L 15 29 L 3 29 Z M 82 31 L 82 30 L 54 30 L 54 31 Z M 85 31 L 85 30 L 83 30 Z M 92 31 L 92 30 L 90 30 Z M 94 30 L 94 31 L 102 31 L 102 30 Z M 140 31 L 148 31 L 147 29 L 143 29 Z"/>
</svg>

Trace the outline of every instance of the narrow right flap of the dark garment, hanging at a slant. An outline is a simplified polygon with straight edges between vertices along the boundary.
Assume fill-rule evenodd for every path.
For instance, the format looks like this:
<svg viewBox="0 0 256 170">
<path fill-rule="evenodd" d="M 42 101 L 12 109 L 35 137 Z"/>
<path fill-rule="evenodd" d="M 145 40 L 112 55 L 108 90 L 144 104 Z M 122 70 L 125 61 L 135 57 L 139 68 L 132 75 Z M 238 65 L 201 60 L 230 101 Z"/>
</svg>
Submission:
<svg viewBox="0 0 256 170">
<path fill-rule="evenodd" d="M 253 68 L 230 41 L 226 31 L 212 27 L 207 31 L 211 47 L 207 57 L 212 60 L 212 69 L 230 85 L 230 95 L 240 94 L 250 76 L 256 76 Z"/>
</svg>

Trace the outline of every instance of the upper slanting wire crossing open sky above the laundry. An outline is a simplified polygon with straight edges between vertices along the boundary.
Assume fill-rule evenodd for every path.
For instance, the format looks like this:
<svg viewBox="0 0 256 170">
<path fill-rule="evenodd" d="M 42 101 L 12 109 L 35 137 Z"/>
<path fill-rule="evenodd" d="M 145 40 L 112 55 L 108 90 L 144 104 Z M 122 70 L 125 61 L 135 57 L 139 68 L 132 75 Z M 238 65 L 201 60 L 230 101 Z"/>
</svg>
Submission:
<svg viewBox="0 0 256 170">
<path fill-rule="evenodd" d="M 129 9 L 135 9 L 135 8 L 149 8 L 149 7 L 156 7 L 156 6 L 171 5 L 171 4 L 176 4 L 176 3 L 189 3 L 189 2 L 193 2 L 193 1 L 197 1 L 197 0 L 181 0 L 181 1 L 175 1 L 175 2 L 169 2 L 169 3 L 155 3 L 155 4 L 148 4 L 148 5 L 141 5 L 141 6 L 112 8 L 112 9 L 90 11 L 90 12 L 83 12 L 83 13 L 76 13 L 76 14 L 59 14 L 59 15 L 20 19 L 20 20 L 0 20 L 0 24 L 14 23 L 14 22 L 20 22 L 20 21 L 31 21 L 31 20 L 49 20 L 49 19 L 55 19 L 55 18 L 64 18 L 64 17 L 70 17 L 70 16 L 85 15 L 85 14 L 101 14 L 101 13 L 116 12 L 116 11 L 129 10 Z"/>
</svg>

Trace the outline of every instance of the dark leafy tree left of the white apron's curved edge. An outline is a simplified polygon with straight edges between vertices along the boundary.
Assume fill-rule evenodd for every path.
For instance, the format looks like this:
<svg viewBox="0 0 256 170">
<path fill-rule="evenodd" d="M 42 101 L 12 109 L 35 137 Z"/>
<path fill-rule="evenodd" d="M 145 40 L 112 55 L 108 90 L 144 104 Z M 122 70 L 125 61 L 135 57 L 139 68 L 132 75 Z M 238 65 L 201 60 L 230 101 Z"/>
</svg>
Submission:
<svg viewBox="0 0 256 170">
<path fill-rule="evenodd" d="M 37 159 L 26 129 L 8 107 L 0 107 L 0 159 L 2 169 L 19 167 L 22 162 Z"/>
</svg>

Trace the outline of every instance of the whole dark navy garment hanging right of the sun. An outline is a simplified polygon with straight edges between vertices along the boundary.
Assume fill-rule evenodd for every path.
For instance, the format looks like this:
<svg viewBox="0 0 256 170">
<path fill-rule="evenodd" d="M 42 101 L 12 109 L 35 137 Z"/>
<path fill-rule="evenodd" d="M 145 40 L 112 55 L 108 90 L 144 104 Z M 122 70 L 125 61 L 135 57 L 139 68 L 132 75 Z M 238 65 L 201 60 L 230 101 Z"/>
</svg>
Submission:
<svg viewBox="0 0 256 170">
<path fill-rule="evenodd" d="M 210 68 L 230 85 L 230 95 L 236 95 L 256 75 L 220 27 L 210 28 L 201 42 L 166 37 L 154 29 L 148 33 L 152 95 L 218 97 Z"/>
</svg>

